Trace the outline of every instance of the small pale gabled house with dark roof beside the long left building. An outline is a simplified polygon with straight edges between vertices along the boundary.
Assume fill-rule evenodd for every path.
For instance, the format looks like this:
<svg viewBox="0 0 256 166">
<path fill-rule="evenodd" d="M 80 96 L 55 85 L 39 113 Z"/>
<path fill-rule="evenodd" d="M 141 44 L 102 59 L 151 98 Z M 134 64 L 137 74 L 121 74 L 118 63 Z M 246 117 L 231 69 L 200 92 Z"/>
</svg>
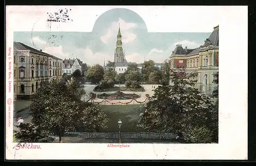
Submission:
<svg viewBox="0 0 256 166">
<path fill-rule="evenodd" d="M 81 74 L 84 74 L 87 70 L 87 64 L 82 63 L 82 61 L 78 58 L 74 59 L 66 59 L 62 61 L 62 73 L 66 73 L 67 75 L 71 75 L 75 72 L 75 70 L 79 69 Z"/>
</svg>

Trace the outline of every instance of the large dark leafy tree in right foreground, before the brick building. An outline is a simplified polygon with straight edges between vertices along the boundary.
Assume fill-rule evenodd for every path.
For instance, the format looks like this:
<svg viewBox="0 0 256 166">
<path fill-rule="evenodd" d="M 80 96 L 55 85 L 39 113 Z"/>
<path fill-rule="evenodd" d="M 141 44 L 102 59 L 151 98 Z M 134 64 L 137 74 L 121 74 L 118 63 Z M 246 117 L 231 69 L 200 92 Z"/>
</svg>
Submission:
<svg viewBox="0 0 256 166">
<path fill-rule="evenodd" d="M 210 130 L 214 105 L 195 88 L 193 78 L 196 75 L 187 75 L 184 69 L 172 70 L 172 84 L 158 86 L 154 90 L 154 95 L 149 98 L 140 115 L 138 129 L 146 132 L 172 132 L 186 141 L 191 141 L 191 132 L 199 130 L 200 126 Z"/>
</svg>

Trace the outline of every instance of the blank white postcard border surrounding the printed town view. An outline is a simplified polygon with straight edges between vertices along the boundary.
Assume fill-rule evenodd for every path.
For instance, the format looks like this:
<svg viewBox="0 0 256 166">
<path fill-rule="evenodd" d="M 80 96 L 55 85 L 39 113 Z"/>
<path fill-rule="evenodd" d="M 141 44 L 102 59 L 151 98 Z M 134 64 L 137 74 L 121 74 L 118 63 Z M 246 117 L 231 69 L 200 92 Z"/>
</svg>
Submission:
<svg viewBox="0 0 256 166">
<path fill-rule="evenodd" d="M 13 82 L 13 32 L 31 31 L 42 12 L 53 8 L 56 7 L 7 6 L 6 159 L 247 159 L 247 6 L 123 7 L 138 13 L 148 32 L 212 32 L 213 27 L 220 25 L 219 144 L 130 144 L 130 148 L 109 148 L 108 144 L 33 144 L 41 149 L 13 149 L 13 83 L 10 92 L 8 86 L 9 81 Z M 118 6 L 67 8 L 82 11 L 77 17 L 87 22 L 80 21 L 79 26 L 73 22 L 70 29 L 58 31 L 91 31 L 99 15 Z M 36 31 L 45 26 L 38 27 Z"/>
</svg>

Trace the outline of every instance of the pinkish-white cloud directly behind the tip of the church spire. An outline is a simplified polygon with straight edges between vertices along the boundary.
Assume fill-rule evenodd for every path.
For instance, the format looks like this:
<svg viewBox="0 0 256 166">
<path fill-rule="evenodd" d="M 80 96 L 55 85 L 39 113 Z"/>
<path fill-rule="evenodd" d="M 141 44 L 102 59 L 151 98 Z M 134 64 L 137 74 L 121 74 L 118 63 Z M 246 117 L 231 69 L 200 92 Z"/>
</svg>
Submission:
<svg viewBox="0 0 256 166">
<path fill-rule="evenodd" d="M 106 34 L 100 37 L 100 40 L 103 43 L 106 44 L 116 39 L 119 23 L 123 43 L 132 42 L 137 38 L 136 34 L 132 31 L 133 28 L 137 27 L 137 24 L 133 22 L 125 22 L 123 19 L 119 18 L 117 22 L 111 22 L 111 26 L 106 30 Z"/>
</svg>

